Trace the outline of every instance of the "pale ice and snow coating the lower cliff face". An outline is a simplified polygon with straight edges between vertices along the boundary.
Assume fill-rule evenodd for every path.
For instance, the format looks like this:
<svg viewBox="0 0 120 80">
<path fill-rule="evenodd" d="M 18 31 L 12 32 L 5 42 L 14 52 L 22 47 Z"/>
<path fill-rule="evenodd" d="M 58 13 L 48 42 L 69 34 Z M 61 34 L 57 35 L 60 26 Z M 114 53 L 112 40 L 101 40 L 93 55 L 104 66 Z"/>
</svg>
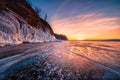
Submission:
<svg viewBox="0 0 120 80">
<path fill-rule="evenodd" d="M 19 44 L 28 42 L 48 42 L 56 40 L 45 28 L 36 29 L 30 26 L 19 15 L 12 11 L 0 12 L 0 43 Z"/>
</svg>

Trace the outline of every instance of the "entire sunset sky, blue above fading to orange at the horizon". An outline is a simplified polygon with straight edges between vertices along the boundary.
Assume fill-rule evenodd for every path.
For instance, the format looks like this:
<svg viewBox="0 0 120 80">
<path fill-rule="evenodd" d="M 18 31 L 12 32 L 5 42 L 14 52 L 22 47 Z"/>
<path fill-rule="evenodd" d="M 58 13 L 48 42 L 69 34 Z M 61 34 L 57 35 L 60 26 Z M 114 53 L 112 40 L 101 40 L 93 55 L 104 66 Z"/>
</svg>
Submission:
<svg viewBox="0 0 120 80">
<path fill-rule="evenodd" d="M 120 39 L 120 0 L 30 0 L 69 39 Z"/>
</svg>

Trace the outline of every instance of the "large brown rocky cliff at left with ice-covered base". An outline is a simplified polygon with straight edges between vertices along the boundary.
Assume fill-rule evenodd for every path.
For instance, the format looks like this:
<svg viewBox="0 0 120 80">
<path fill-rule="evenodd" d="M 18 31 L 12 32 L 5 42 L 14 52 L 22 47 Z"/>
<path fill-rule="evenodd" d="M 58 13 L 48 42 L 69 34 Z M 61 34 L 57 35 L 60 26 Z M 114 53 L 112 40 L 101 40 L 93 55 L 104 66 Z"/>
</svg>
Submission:
<svg viewBox="0 0 120 80">
<path fill-rule="evenodd" d="M 0 43 L 55 40 L 50 25 L 26 0 L 0 0 Z"/>
</svg>

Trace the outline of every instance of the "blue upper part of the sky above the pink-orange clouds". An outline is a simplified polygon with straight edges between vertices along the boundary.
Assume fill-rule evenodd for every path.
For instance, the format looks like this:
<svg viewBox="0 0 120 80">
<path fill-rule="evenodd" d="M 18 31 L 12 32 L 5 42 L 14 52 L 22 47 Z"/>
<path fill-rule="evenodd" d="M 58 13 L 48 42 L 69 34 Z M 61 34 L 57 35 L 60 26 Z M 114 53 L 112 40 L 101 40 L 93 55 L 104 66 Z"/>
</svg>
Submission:
<svg viewBox="0 0 120 80">
<path fill-rule="evenodd" d="M 33 7 L 45 11 L 49 20 L 59 17 L 76 16 L 84 13 L 103 13 L 105 16 L 120 17 L 120 0 L 30 0 Z M 71 13 L 71 11 L 74 13 Z"/>
</svg>

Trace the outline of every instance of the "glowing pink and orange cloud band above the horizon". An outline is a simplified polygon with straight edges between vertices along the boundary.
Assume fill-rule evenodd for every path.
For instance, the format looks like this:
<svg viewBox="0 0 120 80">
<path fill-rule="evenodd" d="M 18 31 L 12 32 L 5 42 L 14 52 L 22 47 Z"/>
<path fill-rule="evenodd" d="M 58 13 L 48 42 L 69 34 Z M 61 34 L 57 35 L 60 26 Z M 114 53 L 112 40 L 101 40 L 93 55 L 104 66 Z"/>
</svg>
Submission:
<svg viewBox="0 0 120 80">
<path fill-rule="evenodd" d="M 52 18 L 54 32 L 69 39 L 120 39 L 120 18 L 103 17 L 103 14 L 83 14 L 74 17 Z"/>
</svg>

